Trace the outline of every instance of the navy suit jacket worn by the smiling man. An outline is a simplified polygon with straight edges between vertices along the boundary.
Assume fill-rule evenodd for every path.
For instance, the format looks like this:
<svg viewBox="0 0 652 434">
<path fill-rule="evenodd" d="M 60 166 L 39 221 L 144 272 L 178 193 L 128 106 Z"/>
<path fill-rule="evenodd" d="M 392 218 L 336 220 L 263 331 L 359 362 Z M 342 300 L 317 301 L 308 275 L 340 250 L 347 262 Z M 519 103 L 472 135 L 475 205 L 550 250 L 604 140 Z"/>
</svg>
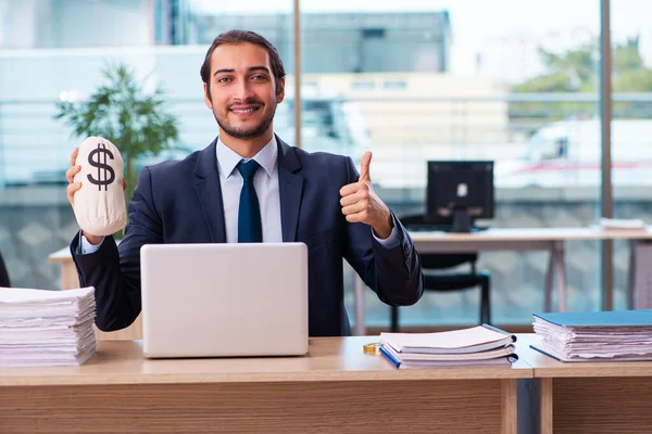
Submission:
<svg viewBox="0 0 652 434">
<path fill-rule="evenodd" d="M 309 154 L 277 141 L 283 241 L 303 242 L 309 250 L 310 335 L 351 334 L 342 258 L 383 302 L 416 303 L 423 294 L 421 261 L 400 221 L 392 214 L 399 245 L 386 248 L 374 240 L 368 226 L 350 224 L 341 213 L 340 188 L 359 179 L 351 158 Z M 216 142 L 183 161 L 140 170 L 120 247 L 108 237 L 97 252 L 82 255 L 77 254 L 79 237 L 74 238 L 71 252 L 79 282 L 96 288 L 100 330 L 128 327 L 140 312 L 143 244 L 226 242 Z"/>
</svg>

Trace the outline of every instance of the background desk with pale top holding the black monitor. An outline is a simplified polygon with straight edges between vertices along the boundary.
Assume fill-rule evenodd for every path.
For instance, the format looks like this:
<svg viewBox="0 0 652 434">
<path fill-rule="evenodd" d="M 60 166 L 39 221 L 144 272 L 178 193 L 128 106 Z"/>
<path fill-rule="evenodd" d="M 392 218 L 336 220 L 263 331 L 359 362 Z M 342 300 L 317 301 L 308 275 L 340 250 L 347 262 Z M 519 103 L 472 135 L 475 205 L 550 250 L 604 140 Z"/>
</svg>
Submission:
<svg viewBox="0 0 652 434">
<path fill-rule="evenodd" d="M 634 253 L 635 244 L 652 240 L 652 228 L 647 230 L 603 230 L 591 228 L 496 228 L 474 233 L 411 232 L 410 235 L 419 253 L 465 253 L 492 251 L 548 251 L 550 258 L 546 272 L 546 311 L 552 310 L 553 281 L 557 292 L 557 310 L 566 309 L 566 271 L 564 268 L 566 241 L 629 240 L 629 284 L 627 304 L 634 308 Z M 364 283 L 355 284 L 355 334 L 364 335 Z M 607 299 L 605 293 L 603 299 Z M 611 303 L 609 304 L 611 306 Z"/>
</svg>

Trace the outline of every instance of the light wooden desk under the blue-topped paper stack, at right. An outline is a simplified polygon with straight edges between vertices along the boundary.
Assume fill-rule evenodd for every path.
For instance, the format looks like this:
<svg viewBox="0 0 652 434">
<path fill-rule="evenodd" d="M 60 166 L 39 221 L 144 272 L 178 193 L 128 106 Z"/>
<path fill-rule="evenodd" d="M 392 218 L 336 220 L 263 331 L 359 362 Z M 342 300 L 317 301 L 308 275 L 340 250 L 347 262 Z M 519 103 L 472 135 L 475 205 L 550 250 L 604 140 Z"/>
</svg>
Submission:
<svg viewBox="0 0 652 434">
<path fill-rule="evenodd" d="M 541 434 L 649 434 L 652 432 L 652 361 L 556 361 L 519 335 L 521 361 L 539 382 Z"/>
</svg>

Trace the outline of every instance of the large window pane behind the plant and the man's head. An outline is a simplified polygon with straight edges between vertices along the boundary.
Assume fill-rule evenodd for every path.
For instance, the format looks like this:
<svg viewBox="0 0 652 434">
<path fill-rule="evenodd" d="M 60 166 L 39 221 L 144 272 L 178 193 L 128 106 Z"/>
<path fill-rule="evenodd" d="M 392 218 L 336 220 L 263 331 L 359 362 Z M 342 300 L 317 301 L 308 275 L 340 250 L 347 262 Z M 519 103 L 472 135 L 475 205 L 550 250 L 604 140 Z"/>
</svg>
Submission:
<svg viewBox="0 0 652 434">
<path fill-rule="evenodd" d="M 48 255 L 66 247 L 78 229 L 64 174 L 84 138 L 72 137 L 70 127 L 53 119 L 55 102 L 88 98 L 105 84 L 106 64 L 124 63 L 146 91 L 165 90 L 167 110 L 180 127 L 176 150 L 143 156 L 138 165 L 183 158 L 216 136 L 199 69 L 218 33 L 237 27 L 261 31 L 281 52 L 291 88 L 292 1 L 265 1 L 263 7 L 252 11 L 243 3 L 200 0 L 0 0 L 0 254 L 12 285 L 60 288 L 60 267 Z M 279 115 L 279 125 L 291 117 L 291 112 Z"/>
</svg>

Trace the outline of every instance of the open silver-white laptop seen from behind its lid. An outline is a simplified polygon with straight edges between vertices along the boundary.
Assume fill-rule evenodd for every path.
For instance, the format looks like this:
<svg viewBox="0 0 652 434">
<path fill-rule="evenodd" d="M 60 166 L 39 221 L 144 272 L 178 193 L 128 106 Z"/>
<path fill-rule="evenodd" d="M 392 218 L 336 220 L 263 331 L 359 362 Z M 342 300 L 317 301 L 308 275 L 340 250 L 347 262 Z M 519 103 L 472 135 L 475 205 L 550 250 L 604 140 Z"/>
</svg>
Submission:
<svg viewBox="0 0 652 434">
<path fill-rule="evenodd" d="M 140 263 L 146 357 L 308 353 L 305 244 L 148 244 Z"/>
</svg>

